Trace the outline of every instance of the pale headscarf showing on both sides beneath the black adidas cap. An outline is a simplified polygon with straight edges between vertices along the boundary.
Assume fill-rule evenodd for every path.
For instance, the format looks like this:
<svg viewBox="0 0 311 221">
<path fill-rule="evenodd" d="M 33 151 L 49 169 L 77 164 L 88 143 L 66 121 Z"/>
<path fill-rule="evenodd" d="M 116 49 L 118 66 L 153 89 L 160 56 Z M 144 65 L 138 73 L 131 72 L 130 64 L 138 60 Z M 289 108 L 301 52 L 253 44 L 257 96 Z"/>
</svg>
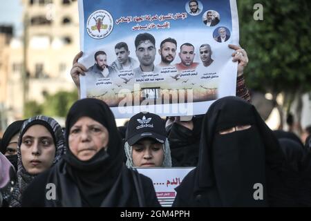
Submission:
<svg viewBox="0 0 311 221">
<path fill-rule="evenodd" d="M 171 167 L 171 148 L 169 148 L 169 140 L 165 140 L 165 143 L 162 144 L 164 160 L 162 163 L 162 167 Z M 133 148 L 129 145 L 128 142 L 124 144 L 124 151 L 126 154 L 126 166 L 129 168 L 135 167 L 133 162 Z"/>
</svg>

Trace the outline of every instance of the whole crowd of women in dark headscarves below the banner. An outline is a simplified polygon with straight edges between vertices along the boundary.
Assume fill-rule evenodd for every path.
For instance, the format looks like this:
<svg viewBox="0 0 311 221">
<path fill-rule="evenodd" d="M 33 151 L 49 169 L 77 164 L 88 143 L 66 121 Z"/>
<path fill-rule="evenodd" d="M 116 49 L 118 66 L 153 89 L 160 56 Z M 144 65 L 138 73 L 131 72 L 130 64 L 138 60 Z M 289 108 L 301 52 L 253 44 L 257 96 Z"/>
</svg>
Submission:
<svg viewBox="0 0 311 221">
<path fill-rule="evenodd" d="M 109 106 L 87 98 L 71 106 L 64 129 L 43 115 L 10 124 L 1 206 L 160 206 L 151 179 L 135 170 L 153 166 L 196 167 L 173 206 L 311 206 L 310 137 L 303 146 L 271 131 L 239 77 L 238 97 L 188 122 L 138 113 L 117 128 Z"/>
</svg>

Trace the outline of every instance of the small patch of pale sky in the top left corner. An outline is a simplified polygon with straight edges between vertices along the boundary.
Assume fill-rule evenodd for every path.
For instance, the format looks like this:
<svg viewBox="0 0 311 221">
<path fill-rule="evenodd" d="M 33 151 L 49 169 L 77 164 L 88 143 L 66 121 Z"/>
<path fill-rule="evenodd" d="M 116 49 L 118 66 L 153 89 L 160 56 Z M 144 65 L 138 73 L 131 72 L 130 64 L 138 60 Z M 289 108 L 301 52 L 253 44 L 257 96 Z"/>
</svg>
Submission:
<svg viewBox="0 0 311 221">
<path fill-rule="evenodd" d="M 21 35 L 22 12 L 21 0 L 0 0 L 0 25 L 13 25 L 15 36 Z"/>
</svg>

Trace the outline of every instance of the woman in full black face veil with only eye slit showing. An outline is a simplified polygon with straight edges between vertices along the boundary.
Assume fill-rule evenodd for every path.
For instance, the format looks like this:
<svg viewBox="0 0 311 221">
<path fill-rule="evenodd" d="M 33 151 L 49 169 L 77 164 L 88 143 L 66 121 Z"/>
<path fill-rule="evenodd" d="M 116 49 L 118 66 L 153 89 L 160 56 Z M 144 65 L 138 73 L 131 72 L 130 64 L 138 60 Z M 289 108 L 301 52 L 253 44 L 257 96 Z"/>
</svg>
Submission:
<svg viewBox="0 0 311 221">
<path fill-rule="evenodd" d="M 173 206 L 268 206 L 285 160 L 254 106 L 218 99 L 202 124 L 198 166 L 176 188 Z"/>
</svg>

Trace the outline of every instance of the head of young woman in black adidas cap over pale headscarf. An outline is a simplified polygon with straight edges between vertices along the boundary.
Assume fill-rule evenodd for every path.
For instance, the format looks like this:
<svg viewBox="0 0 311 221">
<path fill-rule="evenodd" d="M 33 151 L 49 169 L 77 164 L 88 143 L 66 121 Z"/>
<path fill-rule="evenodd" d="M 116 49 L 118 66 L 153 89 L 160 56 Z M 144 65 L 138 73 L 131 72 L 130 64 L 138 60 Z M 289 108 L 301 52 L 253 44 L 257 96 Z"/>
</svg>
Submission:
<svg viewBox="0 0 311 221">
<path fill-rule="evenodd" d="M 131 117 L 124 151 L 129 168 L 171 167 L 171 151 L 163 119 L 153 113 L 138 113 Z"/>
</svg>

